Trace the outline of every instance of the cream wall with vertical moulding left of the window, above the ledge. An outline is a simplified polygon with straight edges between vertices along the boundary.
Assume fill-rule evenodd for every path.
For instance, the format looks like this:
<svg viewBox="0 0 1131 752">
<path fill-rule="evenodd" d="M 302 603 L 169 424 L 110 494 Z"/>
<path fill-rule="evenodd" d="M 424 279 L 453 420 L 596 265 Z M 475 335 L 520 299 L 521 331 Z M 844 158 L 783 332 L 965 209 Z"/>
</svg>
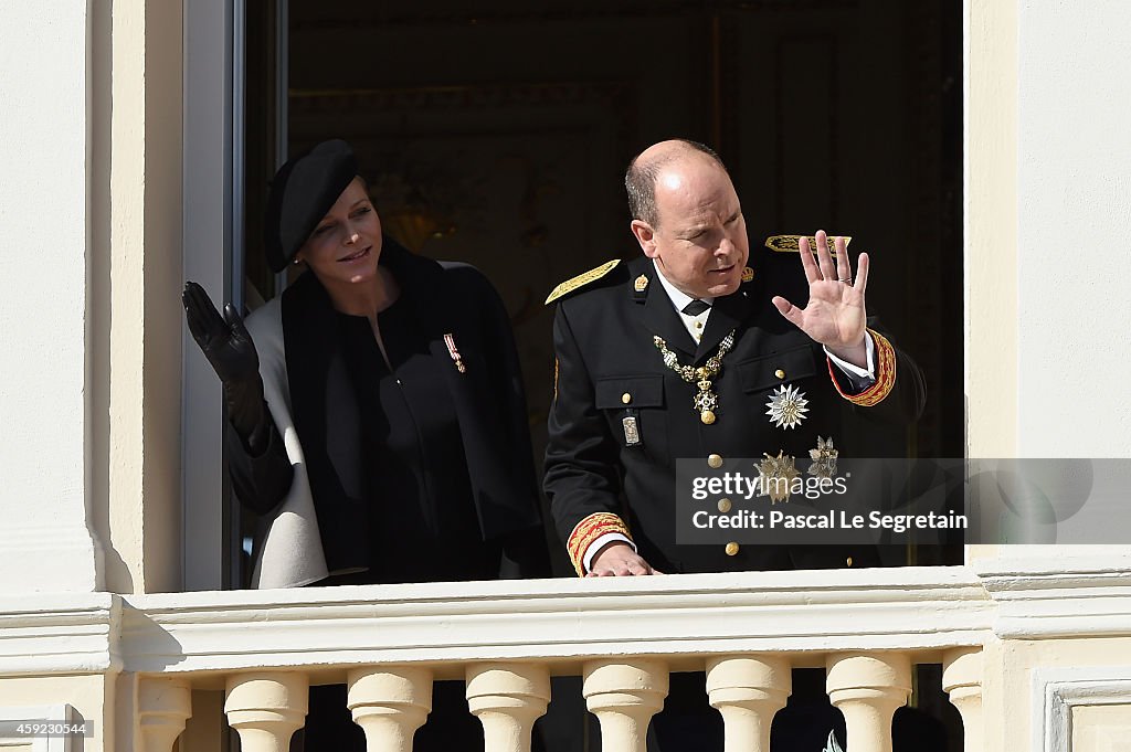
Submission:
<svg viewBox="0 0 1131 752">
<path fill-rule="evenodd" d="M 0 593 L 181 586 L 180 12 L 0 5 Z"/>
</svg>

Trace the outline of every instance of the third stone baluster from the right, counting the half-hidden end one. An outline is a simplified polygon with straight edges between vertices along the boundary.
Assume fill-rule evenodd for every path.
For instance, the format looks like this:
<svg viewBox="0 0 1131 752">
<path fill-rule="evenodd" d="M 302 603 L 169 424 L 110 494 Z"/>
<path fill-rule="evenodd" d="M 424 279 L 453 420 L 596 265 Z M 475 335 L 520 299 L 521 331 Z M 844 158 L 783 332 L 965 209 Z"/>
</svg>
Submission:
<svg viewBox="0 0 1131 752">
<path fill-rule="evenodd" d="M 770 724 L 793 686 L 789 662 L 779 656 L 711 658 L 707 697 L 723 715 L 725 752 L 769 752 Z"/>
</svg>

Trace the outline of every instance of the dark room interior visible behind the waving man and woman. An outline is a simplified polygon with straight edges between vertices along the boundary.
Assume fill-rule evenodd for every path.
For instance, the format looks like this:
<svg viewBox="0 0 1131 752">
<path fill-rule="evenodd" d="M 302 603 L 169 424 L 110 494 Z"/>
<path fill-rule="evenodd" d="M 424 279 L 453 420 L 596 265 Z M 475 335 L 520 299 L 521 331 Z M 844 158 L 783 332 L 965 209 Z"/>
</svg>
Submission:
<svg viewBox="0 0 1131 752">
<path fill-rule="evenodd" d="M 387 232 L 494 282 L 523 356 L 536 451 L 559 282 L 639 249 L 621 176 L 644 146 L 717 148 L 752 258 L 777 233 L 854 236 L 870 312 L 917 358 L 920 457 L 964 451 L 961 8 L 956 0 L 290 0 L 290 153 L 359 152 Z M 249 17 L 248 271 L 277 146 L 276 18 Z M 256 15 L 258 14 L 258 15 Z M 757 262 L 757 261 L 754 261 Z M 909 551 L 956 563 L 960 548 Z"/>
</svg>

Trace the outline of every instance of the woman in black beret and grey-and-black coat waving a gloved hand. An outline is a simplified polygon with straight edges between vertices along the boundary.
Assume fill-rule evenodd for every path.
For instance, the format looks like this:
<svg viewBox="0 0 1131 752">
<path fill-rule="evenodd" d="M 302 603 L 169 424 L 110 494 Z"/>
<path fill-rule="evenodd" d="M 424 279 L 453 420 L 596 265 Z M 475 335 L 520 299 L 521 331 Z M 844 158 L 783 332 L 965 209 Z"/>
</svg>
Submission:
<svg viewBox="0 0 1131 752">
<path fill-rule="evenodd" d="M 247 327 L 183 293 L 224 384 L 233 486 L 269 521 L 253 585 L 549 576 L 518 357 L 486 278 L 382 236 L 339 140 L 278 171 L 266 241 L 274 270 L 309 273 Z M 460 684 L 437 683 L 431 718 L 414 749 L 482 745 Z M 364 749 L 342 688 L 313 688 L 307 749 Z"/>
</svg>

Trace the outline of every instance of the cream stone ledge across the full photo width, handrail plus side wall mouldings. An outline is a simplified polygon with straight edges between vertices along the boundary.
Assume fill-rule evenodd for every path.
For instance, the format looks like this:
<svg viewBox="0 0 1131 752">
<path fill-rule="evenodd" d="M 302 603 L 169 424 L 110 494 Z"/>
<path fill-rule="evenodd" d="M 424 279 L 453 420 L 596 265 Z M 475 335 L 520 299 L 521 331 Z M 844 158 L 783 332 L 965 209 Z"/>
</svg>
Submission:
<svg viewBox="0 0 1131 752">
<path fill-rule="evenodd" d="M 1131 636 L 1131 554 L 1022 553 L 939 568 L 0 594 L 0 675 L 748 651 L 819 658 L 922 654 L 991 636 Z"/>
</svg>

